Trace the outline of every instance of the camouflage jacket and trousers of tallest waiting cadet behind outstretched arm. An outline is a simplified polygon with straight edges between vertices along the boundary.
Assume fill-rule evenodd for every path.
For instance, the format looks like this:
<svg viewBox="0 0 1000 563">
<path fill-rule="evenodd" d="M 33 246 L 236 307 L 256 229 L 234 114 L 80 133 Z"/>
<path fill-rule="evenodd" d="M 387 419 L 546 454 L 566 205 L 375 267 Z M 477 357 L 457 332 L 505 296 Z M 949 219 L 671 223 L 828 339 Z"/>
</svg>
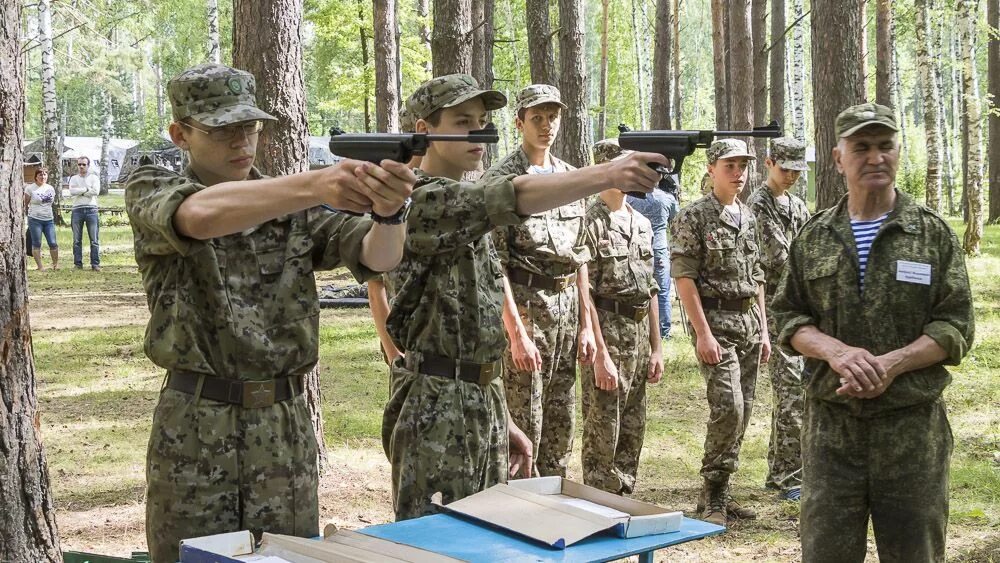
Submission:
<svg viewBox="0 0 1000 563">
<path fill-rule="evenodd" d="M 573 170 L 552 158 L 553 173 Z M 518 148 L 486 171 L 484 179 L 526 174 L 531 168 Z M 584 241 L 583 201 L 532 215 L 519 225 L 492 233 L 504 271 L 516 267 L 548 277 L 577 272 L 590 259 Z M 504 354 L 507 407 L 514 423 L 531 438 L 538 475 L 566 475 L 576 425 L 576 356 L 579 295 L 576 285 L 562 291 L 511 282 L 511 293 L 525 330 L 542 357 L 542 369 L 515 367 L 508 347 Z"/>
</svg>

